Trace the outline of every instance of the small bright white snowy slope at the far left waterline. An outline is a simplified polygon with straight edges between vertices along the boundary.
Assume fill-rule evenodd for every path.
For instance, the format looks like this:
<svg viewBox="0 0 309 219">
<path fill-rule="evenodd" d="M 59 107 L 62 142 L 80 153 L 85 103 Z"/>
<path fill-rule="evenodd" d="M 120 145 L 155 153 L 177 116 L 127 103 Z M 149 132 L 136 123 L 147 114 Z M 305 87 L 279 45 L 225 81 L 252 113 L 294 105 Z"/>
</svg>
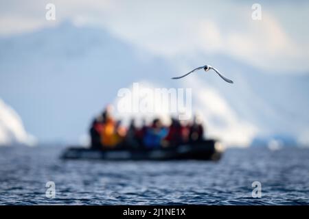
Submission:
<svg viewBox="0 0 309 219">
<path fill-rule="evenodd" d="M 34 138 L 25 131 L 19 115 L 0 99 L 0 146 L 12 144 L 33 146 Z"/>
</svg>

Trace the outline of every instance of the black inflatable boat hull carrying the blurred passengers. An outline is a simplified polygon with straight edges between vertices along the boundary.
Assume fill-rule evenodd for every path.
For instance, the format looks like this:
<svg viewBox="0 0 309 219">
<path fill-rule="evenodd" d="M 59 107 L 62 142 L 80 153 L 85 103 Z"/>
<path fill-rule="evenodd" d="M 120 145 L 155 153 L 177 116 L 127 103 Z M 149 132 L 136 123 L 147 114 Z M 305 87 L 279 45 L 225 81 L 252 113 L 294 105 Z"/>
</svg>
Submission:
<svg viewBox="0 0 309 219">
<path fill-rule="evenodd" d="M 218 160 L 224 149 L 216 140 L 203 140 L 194 144 L 181 144 L 162 149 L 86 149 L 81 146 L 69 147 L 62 159 L 102 159 L 102 160 Z"/>
</svg>

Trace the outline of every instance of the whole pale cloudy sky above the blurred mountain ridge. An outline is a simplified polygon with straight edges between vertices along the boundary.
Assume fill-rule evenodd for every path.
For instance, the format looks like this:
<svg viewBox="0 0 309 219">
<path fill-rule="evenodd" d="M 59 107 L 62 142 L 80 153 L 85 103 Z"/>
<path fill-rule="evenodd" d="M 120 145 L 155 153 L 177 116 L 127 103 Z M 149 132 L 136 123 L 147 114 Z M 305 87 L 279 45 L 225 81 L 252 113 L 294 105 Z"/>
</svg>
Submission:
<svg viewBox="0 0 309 219">
<path fill-rule="evenodd" d="M 55 21 L 45 18 L 47 3 Z M 166 58 L 223 53 L 275 74 L 309 73 L 308 19 L 308 1 L 0 1 L 0 36 L 69 20 Z"/>
</svg>

